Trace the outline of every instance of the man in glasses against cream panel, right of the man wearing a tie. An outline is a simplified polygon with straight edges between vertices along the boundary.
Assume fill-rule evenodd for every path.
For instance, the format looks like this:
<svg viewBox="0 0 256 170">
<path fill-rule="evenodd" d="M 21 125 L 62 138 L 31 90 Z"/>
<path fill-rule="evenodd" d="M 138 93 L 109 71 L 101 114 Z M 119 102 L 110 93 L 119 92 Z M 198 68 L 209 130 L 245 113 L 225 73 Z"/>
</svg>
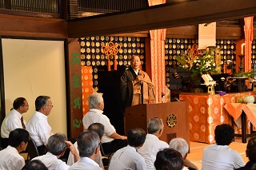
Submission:
<svg viewBox="0 0 256 170">
<path fill-rule="evenodd" d="M 39 96 L 35 100 L 35 113 L 27 123 L 26 130 L 30 132 L 30 137 L 37 145 L 40 156 L 46 154 L 47 140 L 54 133 L 48 124 L 47 116 L 54 107 L 50 97 Z"/>
</svg>

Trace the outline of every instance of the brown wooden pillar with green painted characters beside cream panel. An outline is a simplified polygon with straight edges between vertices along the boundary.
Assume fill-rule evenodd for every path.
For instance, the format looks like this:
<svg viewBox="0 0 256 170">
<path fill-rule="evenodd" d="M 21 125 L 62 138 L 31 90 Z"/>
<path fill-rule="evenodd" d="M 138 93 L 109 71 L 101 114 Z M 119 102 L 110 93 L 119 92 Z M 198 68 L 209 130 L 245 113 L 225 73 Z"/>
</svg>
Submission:
<svg viewBox="0 0 256 170">
<path fill-rule="evenodd" d="M 76 138 L 82 125 L 82 72 L 78 39 L 66 39 L 67 135 Z"/>
</svg>

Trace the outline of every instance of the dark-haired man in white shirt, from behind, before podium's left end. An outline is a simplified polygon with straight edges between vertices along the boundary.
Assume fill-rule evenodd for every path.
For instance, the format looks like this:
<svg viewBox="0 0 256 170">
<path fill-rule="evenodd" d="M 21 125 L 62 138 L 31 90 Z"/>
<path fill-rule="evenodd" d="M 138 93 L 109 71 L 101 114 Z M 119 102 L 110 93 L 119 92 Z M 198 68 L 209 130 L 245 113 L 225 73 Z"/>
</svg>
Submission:
<svg viewBox="0 0 256 170">
<path fill-rule="evenodd" d="M 139 169 L 146 170 L 144 158 L 137 152 L 146 140 L 146 132 L 142 128 L 132 128 L 128 131 L 128 146 L 120 148 L 110 160 L 109 170 Z"/>
</svg>

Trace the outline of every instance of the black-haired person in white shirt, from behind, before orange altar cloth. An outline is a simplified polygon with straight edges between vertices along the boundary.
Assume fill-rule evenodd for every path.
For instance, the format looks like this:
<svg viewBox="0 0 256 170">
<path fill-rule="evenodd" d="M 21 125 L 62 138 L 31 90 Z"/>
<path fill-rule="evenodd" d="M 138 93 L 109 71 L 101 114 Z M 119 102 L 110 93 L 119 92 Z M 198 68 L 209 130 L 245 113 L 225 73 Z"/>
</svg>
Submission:
<svg viewBox="0 0 256 170">
<path fill-rule="evenodd" d="M 234 128 L 231 125 L 222 124 L 214 130 L 216 144 L 210 144 L 202 153 L 202 170 L 229 170 L 245 165 L 237 151 L 228 145 L 234 139 Z"/>
</svg>

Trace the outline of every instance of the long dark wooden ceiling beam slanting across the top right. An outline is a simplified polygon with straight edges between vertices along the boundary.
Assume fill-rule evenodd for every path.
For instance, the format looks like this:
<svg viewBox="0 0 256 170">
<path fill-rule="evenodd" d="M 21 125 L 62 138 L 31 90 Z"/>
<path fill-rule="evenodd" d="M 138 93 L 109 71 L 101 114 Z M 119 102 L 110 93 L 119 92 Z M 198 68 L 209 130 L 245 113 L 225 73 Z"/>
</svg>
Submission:
<svg viewBox="0 0 256 170">
<path fill-rule="evenodd" d="M 176 5 L 150 6 L 145 10 L 104 14 L 71 20 L 69 38 L 123 34 L 176 26 L 189 26 L 256 14 L 255 0 L 198 0 Z"/>
</svg>

